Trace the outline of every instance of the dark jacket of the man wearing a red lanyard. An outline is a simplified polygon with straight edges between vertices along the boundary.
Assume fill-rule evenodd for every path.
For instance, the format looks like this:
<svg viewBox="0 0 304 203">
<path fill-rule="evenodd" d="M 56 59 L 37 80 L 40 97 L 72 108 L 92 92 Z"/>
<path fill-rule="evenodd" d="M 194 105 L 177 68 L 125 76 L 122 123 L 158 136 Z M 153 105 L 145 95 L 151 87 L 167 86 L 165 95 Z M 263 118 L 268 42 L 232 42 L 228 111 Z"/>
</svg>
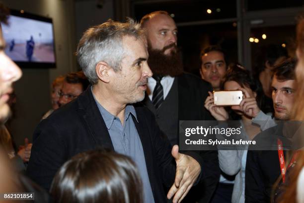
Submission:
<svg viewBox="0 0 304 203">
<path fill-rule="evenodd" d="M 251 148 L 248 148 L 245 172 L 246 203 L 270 203 L 273 185 L 281 176 L 277 138 L 280 137 L 283 144 L 288 143 L 281 133 L 282 126 L 274 126 L 254 138 L 257 143 L 264 141 L 266 144 L 263 147 L 272 150 L 250 150 Z M 286 157 L 286 151 L 283 150 L 283 152 Z"/>
</svg>

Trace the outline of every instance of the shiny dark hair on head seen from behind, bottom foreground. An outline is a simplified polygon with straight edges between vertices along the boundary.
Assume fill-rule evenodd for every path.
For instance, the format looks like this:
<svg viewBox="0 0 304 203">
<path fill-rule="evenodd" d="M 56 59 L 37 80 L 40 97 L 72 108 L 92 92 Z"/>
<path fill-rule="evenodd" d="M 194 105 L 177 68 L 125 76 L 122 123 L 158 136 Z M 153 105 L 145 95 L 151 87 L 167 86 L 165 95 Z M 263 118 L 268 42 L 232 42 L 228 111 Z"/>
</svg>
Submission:
<svg viewBox="0 0 304 203">
<path fill-rule="evenodd" d="M 51 194 L 56 203 L 142 203 L 135 163 L 115 152 L 80 153 L 57 172 Z"/>
</svg>

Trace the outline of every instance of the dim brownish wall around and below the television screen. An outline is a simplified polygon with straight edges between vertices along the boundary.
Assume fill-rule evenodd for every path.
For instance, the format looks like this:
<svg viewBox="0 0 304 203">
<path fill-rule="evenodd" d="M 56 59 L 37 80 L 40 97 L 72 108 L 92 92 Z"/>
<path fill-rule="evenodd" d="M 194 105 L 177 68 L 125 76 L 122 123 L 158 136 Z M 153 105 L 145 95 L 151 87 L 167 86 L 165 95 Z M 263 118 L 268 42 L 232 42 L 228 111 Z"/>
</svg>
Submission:
<svg viewBox="0 0 304 203">
<path fill-rule="evenodd" d="M 50 84 L 58 75 L 76 70 L 75 3 L 74 0 L 2 0 L 13 9 L 53 18 L 56 43 L 56 69 L 22 69 L 23 76 L 15 84 L 17 103 L 15 118 L 9 129 L 18 145 L 24 137 L 32 138 L 41 116 L 51 107 Z"/>
</svg>

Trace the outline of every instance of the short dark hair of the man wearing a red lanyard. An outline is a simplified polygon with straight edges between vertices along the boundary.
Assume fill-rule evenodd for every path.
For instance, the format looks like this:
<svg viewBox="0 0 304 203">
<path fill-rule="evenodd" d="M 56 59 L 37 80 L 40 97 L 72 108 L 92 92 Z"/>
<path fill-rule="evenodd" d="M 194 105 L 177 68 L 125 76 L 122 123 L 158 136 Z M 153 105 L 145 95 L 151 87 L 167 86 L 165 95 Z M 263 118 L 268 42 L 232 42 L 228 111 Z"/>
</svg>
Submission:
<svg viewBox="0 0 304 203">
<path fill-rule="evenodd" d="M 276 76 L 278 81 L 287 81 L 287 80 L 296 80 L 295 68 L 297 60 L 289 58 L 283 61 L 281 64 L 278 64 L 272 70 L 272 78 Z"/>
</svg>

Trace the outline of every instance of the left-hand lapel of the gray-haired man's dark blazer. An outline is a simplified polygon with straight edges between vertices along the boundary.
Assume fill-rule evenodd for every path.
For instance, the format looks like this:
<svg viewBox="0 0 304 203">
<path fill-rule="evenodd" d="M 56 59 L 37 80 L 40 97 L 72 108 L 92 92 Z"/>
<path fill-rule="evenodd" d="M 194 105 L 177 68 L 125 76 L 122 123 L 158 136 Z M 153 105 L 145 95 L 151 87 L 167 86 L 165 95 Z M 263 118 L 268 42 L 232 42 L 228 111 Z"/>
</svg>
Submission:
<svg viewBox="0 0 304 203">
<path fill-rule="evenodd" d="M 82 114 L 83 121 L 87 125 L 97 146 L 114 151 L 109 131 L 93 98 L 91 88 L 88 87 L 77 100 L 79 106 L 78 112 Z"/>
</svg>

